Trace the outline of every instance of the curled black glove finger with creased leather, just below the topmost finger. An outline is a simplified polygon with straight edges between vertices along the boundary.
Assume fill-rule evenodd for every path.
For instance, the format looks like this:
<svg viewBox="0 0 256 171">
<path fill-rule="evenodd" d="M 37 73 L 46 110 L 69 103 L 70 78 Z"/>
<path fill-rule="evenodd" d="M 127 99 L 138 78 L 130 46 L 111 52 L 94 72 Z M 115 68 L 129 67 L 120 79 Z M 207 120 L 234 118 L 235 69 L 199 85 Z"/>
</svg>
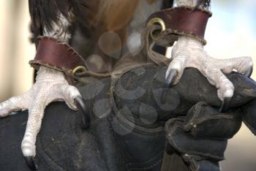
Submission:
<svg viewBox="0 0 256 171">
<path fill-rule="evenodd" d="M 184 118 L 184 129 L 192 137 L 202 139 L 227 140 L 241 128 L 239 110 L 220 113 L 217 107 L 198 102 Z"/>
</svg>

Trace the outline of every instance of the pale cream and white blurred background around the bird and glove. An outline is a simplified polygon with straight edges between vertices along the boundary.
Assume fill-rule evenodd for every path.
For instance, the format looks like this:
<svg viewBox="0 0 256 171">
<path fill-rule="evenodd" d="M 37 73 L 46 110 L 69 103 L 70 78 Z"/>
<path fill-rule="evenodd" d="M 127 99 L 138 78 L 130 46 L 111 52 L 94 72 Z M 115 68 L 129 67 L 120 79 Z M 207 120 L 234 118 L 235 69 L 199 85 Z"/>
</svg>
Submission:
<svg viewBox="0 0 256 171">
<path fill-rule="evenodd" d="M 215 58 L 251 56 L 256 64 L 256 1 L 214 0 L 206 51 Z M 29 42 L 28 1 L 0 0 L 0 102 L 23 94 L 33 83 L 35 47 Z M 252 78 L 256 79 L 256 72 Z M 229 140 L 223 171 L 256 170 L 256 137 L 244 125 Z"/>
</svg>

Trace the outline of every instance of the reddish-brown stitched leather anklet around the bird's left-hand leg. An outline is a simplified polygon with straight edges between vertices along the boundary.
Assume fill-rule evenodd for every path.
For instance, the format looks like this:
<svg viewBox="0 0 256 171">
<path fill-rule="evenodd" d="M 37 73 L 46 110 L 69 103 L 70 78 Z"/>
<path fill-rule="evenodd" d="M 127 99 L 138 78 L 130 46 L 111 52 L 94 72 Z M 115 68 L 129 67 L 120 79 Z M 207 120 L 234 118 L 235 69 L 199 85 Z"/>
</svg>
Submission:
<svg viewBox="0 0 256 171">
<path fill-rule="evenodd" d="M 86 67 L 86 61 L 69 45 L 52 37 L 39 37 L 39 46 L 34 60 L 29 64 L 34 69 L 40 65 L 57 69 L 70 76 L 77 66 Z"/>
</svg>

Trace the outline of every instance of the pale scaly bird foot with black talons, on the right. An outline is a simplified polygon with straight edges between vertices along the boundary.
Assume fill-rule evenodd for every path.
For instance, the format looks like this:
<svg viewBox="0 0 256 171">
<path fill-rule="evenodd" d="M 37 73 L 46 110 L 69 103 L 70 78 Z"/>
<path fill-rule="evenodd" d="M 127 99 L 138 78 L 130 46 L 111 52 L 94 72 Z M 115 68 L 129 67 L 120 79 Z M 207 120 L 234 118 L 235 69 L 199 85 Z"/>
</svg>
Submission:
<svg viewBox="0 0 256 171">
<path fill-rule="evenodd" d="M 165 75 L 169 87 L 178 83 L 185 68 L 196 68 L 207 78 L 209 83 L 216 86 L 219 99 L 222 100 L 222 107 L 220 107 L 222 112 L 228 110 L 234 92 L 233 83 L 224 74 L 236 69 L 246 77 L 252 75 L 252 58 L 212 58 L 203 50 L 202 43 L 192 37 L 179 37 L 173 47 L 172 58 L 173 61 L 170 62 Z"/>
</svg>

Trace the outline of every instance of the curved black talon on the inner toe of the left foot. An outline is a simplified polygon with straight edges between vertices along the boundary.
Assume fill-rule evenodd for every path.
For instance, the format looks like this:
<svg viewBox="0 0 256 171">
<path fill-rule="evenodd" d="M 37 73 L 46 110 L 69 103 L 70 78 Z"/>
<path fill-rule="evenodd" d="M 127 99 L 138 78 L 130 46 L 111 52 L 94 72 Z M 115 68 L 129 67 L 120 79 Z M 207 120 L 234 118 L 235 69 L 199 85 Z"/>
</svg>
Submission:
<svg viewBox="0 0 256 171">
<path fill-rule="evenodd" d="M 86 104 L 84 104 L 83 99 L 80 96 L 75 98 L 75 106 L 78 107 L 78 110 L 80 111 L 83 129 L 88 129 L 90 126 L 90 116 L 87 113 Z"/>
</svg>

